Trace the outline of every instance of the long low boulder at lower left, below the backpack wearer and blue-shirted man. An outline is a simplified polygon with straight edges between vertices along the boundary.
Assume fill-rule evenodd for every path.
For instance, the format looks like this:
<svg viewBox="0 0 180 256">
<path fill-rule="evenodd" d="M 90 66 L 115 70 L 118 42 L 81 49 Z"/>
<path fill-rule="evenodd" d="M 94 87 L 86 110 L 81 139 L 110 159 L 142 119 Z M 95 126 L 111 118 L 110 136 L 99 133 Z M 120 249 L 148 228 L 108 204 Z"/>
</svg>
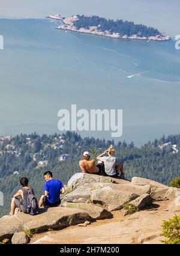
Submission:
<svg viewBox="0 0 180 256">
<path fill-rule="evenodd" d="M 0 219 L 0 240 L 11 238 L 14 233 L 27 231 L 41 233 L 49 229 L 61 230 L 70 225 L 89 221 L 92 218 L 83 210 L 63 207 L 40 209 L 38 215 L 19 213 L 17 216 L 7 216 Z"/>
</svg>

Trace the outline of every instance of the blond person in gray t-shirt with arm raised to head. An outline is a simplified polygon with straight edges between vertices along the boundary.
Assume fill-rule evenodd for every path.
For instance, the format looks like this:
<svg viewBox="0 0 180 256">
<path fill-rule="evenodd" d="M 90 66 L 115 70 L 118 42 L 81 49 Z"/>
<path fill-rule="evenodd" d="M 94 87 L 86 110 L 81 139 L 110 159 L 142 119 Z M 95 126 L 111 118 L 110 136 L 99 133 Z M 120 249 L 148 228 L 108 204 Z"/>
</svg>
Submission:
<svg viewBox="0 0 180 256">
<path fill-rule="evenodd" d="M 108 156 L 104 156 L 105 154 L 108 154 Z M 108 150 L 97 157 L 97 160 L 104 163 L 104 175 L 118 177 L 121 172 L 120 178 L 124 178 L 123 163 L 118 162 L 113 154 L 115 154 L 115 149 L 110 145 Z"/>
</svg>

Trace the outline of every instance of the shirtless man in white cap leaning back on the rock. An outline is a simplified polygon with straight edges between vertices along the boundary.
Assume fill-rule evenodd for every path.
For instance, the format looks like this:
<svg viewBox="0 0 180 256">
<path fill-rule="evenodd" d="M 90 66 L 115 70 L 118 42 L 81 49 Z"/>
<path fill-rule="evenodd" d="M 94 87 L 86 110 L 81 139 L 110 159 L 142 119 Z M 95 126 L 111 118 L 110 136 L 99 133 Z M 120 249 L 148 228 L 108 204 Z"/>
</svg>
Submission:
<svg viewBox="0 0 180 256">
<path fill-rule="evenodd" d="M 95 160 L 90 160 L 90 155 L 88 151 L 85 151 L 83 153 L 83 160 L 79 161 L 80 169 L 83 173 L 89 173 L 89 174 L 103 174 L 103 164 L 98 163 L 98 165 L 95 164 Z"/>
</svg>

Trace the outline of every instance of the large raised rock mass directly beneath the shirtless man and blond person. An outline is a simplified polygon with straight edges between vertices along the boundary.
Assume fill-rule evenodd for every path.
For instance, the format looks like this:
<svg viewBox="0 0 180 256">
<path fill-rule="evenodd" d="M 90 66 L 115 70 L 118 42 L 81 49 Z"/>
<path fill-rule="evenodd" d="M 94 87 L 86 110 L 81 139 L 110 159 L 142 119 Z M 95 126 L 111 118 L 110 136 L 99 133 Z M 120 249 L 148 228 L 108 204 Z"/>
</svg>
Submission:
<svg viewBox="0 0 180 256">
<path fill-rule="evenodd" d="M 62 199 L 64 202 L 90 200 L 93 204 L 107 207 L 109 211 L 122 209 L 128 203 L 143 194 L 151 193 L 150 184 L 139 186 L 130 181 L 92 174 L 74 174 L 68 181 L 70 193 Z"/>
</svg>

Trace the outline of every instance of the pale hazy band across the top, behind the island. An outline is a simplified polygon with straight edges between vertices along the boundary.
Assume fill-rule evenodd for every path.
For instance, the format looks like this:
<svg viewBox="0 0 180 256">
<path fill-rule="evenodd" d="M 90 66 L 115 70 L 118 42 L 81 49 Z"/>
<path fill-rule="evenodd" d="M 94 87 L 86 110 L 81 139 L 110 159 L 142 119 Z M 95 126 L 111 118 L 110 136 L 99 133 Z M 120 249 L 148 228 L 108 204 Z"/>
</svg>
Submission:
<svg viewBox="0 0 180 256">
<path fill-rule="evenodd" d="M 0 0 L 1 18 L 97 14 L 154 26 L 172 37 L 180 34 L 179 9 L 179 0 Z"/>
</svg>

